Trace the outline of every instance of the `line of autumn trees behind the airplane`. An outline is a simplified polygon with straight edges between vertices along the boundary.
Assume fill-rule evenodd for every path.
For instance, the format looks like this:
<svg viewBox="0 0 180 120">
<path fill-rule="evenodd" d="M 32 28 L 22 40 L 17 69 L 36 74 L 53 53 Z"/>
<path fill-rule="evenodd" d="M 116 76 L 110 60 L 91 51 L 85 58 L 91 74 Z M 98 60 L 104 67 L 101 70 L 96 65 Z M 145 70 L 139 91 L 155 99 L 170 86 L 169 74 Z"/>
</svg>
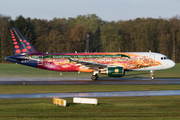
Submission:
<svg viewBox="0 0 180 120">
<path fill-rule="evenodd" d="M 180 17 L 170 19 L 136 18 L 104 21 L 96 14 L 53 20 L 24 18 L 12 20 L 0 15 L 0 62 L 13 55 L 8 27 L 17 27 L 42 53 L 159 52 L 180 62 Z"/>
</svg>

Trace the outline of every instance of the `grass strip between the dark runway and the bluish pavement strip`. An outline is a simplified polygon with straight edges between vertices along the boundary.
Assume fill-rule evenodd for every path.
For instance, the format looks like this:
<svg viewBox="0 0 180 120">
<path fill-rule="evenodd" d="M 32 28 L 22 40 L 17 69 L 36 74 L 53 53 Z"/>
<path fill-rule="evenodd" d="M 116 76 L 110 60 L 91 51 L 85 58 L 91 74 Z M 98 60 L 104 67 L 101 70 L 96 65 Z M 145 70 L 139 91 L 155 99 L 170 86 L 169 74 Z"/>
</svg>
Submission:
<svg viewBox="0 0 180 120">
<path fill-rule="evenodd" d="M 0 94 L 179 90 L 180 85 L 0 85 Z"/>
</svg>

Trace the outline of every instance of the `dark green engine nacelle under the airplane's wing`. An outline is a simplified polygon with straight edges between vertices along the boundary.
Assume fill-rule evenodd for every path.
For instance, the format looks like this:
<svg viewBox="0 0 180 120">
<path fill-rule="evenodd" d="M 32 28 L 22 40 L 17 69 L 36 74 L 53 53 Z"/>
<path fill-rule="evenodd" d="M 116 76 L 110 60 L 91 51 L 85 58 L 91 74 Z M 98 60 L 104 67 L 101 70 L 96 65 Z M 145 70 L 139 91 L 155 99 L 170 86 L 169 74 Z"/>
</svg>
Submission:
<svg viewBox="0 0 180 120">
<path fill-rule="evenodd" d="M 124 75 L 123 67 L 109 67 L 106 71 L 101 71 L 102 74 L 107 74 L 111 77 L 122 77 Z"/>
</svg>

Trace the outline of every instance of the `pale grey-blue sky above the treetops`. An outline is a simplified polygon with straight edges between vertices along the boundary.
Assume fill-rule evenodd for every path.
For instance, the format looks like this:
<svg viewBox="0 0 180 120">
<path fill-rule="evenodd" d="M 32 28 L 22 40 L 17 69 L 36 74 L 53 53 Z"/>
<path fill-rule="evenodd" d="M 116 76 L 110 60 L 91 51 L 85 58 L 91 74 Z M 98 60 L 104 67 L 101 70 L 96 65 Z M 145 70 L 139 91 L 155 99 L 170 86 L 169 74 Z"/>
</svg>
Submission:
<svg viewBox="0 0 180 120">
<path fill-rule="evenodd" d="M 171 18 L 180 15 L 180 0 L 0 0 L 0 14 L 47 20 L 88 14 L 106 21 Z"/>
</svg>

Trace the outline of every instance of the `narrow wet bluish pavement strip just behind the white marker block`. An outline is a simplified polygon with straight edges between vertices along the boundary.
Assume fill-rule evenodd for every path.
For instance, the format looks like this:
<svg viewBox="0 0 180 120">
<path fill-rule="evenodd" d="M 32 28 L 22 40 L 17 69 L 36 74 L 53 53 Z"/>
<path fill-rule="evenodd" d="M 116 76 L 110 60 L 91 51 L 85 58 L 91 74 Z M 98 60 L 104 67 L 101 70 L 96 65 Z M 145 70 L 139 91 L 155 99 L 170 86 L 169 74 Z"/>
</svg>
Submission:
<svg viewBox="0 0 180 120">
<path fill-rule="evenodd" d="M 72 98 L 72 97 L 122 97 L 122 96 L 169 96 L 180 95 L 180 90 L 128 91 L 128 92 L 83 92 L 83 93 L 36 93 L 0 94 L 0 99 L 13 98 Z"/>
</svg>

